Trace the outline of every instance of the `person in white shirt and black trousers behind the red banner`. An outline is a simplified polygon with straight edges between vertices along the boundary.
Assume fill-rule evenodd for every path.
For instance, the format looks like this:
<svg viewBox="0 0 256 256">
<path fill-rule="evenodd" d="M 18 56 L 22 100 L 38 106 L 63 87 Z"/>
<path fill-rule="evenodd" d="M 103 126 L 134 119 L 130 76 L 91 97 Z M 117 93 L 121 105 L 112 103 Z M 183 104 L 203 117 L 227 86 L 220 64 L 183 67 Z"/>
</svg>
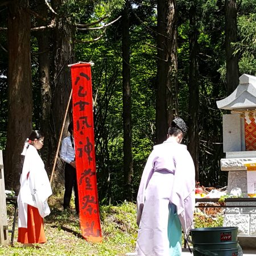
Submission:
<svg viewBox="0 0 256 256">
<path fill-rule="evenodd" d="M 70 136 L 63 139 L 60 150 L 60 158 L 65 162 L 65 193 L 63 200 L 63 208 L 69 208 L 72 189 L 74 188 L 76 213 L 79 214 L 79 196 L 76 180 L 76 160 L 75 141 L 73 138 L 73 122 L 69 123 L 68 131 L 70 133 Z"/>
</svg>

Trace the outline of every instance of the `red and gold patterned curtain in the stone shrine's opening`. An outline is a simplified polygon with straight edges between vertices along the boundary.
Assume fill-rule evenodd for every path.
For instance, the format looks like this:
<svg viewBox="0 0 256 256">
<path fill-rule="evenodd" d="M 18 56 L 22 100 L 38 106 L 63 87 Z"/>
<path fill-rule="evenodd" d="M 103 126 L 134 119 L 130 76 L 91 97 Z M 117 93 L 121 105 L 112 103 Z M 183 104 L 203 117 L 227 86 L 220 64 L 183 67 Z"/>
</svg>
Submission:
<svg viewBox="0 0 256 256">
<path fill-rule="evenodd" d="M 245 148 L 246 151 L 256 150 L 256 113 L 245 113 Z"/>
</svg>

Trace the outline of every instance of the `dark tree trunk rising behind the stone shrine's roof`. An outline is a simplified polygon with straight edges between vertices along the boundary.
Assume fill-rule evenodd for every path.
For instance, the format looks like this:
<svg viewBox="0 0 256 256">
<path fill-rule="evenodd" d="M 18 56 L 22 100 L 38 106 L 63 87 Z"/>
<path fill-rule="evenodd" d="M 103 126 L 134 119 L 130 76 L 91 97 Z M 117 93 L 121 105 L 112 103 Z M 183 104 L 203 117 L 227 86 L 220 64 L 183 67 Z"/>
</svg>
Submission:
<svg viewBox="0 0 256 256">
<path fill-rule="evenodd" d="M 225 49 L 226 49 L 226 87 L 231 94 L 239 84 L 238 55 L 233 55 L 231 43 L 237 42 L 236 0 L 225 0 Z"/>
</svg>

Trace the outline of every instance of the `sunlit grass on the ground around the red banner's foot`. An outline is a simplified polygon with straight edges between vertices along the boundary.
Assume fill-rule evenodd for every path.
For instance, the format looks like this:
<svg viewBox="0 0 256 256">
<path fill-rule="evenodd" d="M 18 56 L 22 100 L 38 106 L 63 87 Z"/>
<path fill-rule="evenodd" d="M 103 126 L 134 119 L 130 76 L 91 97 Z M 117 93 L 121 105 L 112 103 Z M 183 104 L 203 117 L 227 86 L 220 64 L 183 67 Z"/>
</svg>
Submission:
<svg viewBox="0 0 256 256">
<path fill-rule="evenodd" d="M 7 206 L 9 227 L 13 225 L 12 205 Z M 0 255 L 55 255 L 55 256 L 93 256 L 93 255 L 125 255 L 135 250 L 137 239 L 136 205 L 122 203 L 117 206 L 100 207 L 102 238 L 101 243 L 87 242 L 81 238 L 79 217 L 75 209 L 63 211 L 52 208 L 51 214 L 44 218 L 47 243 L 42 248 L 24 248 L 16 242 L 18 230 L 15 230 L 14 246 L 1 246 Z M 195 213 L 195 228 L 221 226 L 223 214 L 207 216 Z"/>
</svg>

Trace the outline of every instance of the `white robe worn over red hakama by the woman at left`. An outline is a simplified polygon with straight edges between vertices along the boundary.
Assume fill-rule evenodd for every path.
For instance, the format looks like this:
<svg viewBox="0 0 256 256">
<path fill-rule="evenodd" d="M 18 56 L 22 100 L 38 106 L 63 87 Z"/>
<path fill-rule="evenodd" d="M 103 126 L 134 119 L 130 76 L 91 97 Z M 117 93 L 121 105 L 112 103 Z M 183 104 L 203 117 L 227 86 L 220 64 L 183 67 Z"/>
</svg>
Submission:
<svg viewBox="0 0 256 256">
<path fill-rule="evenodd" d="M 29 174 L 28 174 L 29 173 Z M 27 228 L 27 205 L 36 207 L 41 217 L 50 213 L 47 199 L 52 195 L 51 184 L 44 169 L 43 160 L 32 145 L 28 146 L 24 158 L 20 191 L 18 195 L 18 227 Z"/>
</svg>

